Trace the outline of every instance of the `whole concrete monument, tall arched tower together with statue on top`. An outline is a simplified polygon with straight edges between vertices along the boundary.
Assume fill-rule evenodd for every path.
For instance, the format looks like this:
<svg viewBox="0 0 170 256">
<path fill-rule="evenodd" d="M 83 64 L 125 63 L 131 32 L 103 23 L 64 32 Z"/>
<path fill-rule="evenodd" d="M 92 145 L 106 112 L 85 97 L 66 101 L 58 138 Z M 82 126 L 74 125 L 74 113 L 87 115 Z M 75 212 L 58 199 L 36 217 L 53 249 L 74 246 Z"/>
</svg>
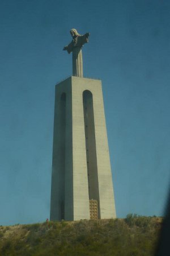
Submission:
<svg viewBox="0 0 170 256">
<path fill-rule="evenodd" d="M 56 85 L 50 220 L 116 218 L 101 81 L 83 78 L 73 29 L 73 76 Z"/>
</svg>

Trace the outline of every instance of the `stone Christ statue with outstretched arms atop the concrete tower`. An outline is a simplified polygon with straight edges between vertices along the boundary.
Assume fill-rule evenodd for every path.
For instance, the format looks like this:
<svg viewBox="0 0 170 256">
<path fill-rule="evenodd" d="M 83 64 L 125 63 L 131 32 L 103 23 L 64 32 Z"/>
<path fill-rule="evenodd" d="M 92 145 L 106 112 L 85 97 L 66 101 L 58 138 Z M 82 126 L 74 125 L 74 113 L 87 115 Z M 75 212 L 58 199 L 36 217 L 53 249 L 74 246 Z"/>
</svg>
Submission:
<svg viewBox="0 0 170 256">
<path fill-rule="evenodd" d="M 67 50 L 68 53 L 73 52 L 73 76 L 83 77 L 82 47 L 83 44 L 88 43 L 88 36 L 90 34 L 80 35 L 75 28 L 70 30 L 70 34 L 73 40 L 63 50 Z"/>
</svg>

